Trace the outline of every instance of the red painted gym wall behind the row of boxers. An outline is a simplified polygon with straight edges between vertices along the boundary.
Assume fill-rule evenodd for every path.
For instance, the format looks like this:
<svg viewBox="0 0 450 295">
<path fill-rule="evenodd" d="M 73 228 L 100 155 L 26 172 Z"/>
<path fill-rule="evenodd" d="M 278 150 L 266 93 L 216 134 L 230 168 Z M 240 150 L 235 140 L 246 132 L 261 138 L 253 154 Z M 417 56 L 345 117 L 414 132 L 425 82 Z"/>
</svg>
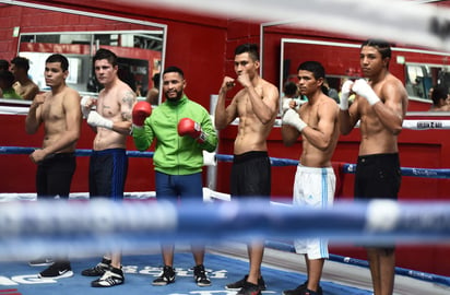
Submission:
<svg viewBox="0 0 450 295">
<path fill-rule="evenodd" d="M 167 25 L 167 51 L 166 66 L 176 64 L 185 70 L 188 87 L 187 94 L 200 102 L 206 108 L 210 104 L 210 95 L 217 92 L 225 74 L 233 75 L 233 58 L 236 45 L 244 42 L 259 44 L 259 23 L 250 23 L 242 20 L 225 20 L 198 15 L 192 13 L 177 12 L 162 9 L 137 10 L 127 5 L 110 4 L 106 1 L 92 1 L 80 4 L 80 1 L 29 1 L 43 4 L 58 4 L 70 9 L 79 9 L 90 12 L 106 13 L 117 16 L 132 17 L 138 20 L 163 23 Z M 84 1 L 83 1 L 84 2 Z M 103 30 L 104 23 L 93 21 L 84 23 L 82 16 L 58 17 L 55 13 L 39 12 L 35 10 L 13 5 L 0 5 L 0 58 L 12 59 L 17 49 L 17 38 L 13 38 L 12 30 L 20 26 L 22 32 L 40 32 L 61 30 L 61 21 L 68 26 L 79 24 L 87 31 Z M 87 28 L 88 26 L 88 28 Z M 92 27 L 91 27 L 92 26 Z M 94 28 L 95 27 L 95 28 Z M 131 30 L 131 27 L 130 27 Z M 280 74 L 280 40 L 282 37 L 307 37 L 334 42 L 353 42 L 348 36 L 338 36 L 323 32 L 294 30 L 287 27 L 270 27 L 264 34 L 263 76 L 270 82 L 279 85 Z M 309 56 L 313 57 L 313 55 Z M 334 61 L 327 54 L 322 58 Z M 421 61 L 421 56 L 411 56 Z M 346 56 L 345 62 L 357 67 L 357 56 Z M 411 60 L 413 61 L 413 60 Z M 438 63 L 440 61 L 436 61 Z M 345 67 L 336 67 L 345 69 Z M 333 68 L 330 70 L 334 71 Z M 402 75 L 401 70 L 392 69 Z M 425 110 L 428 106 L 422 103 L 411 102 L 410 110 Z M 450 119 L 439 117 L 438 119 Z M 39 146 L 42 133 L 27 135 L 24 132 L 24 116 L 0 115 L 0 145 L 11 146 Z M 42 131 L 40 131 L 42 132 Z M 403 130 L 399 138 L 401 163 L 405 167 L 450 167 L 450 139 L 447 130 L 413 131 Z M 221 132 L 218 153 L 233 154 L 233 141 L 236 135 L 236 127 L 230 126 Z M 83 123 L 82 139 L 79 149 L 91 149 L 93 133 Z M 358 130 L 347 137 L 341 137 L 336 152 L 333 156 L 335 162 L 354 163 L 357 157 L 359 144 Z M 131 139 L 128 148 L 134 150 Z M 293 148 L 282 144 L 280 129 L 275 128 L 269 138 L 269 153 L 273 157 L 298 158 L 301 152 L 299 141 Z M 0 191 L 2 192 L 33 192 L 35 165 L 27 156 L 10 155 L 0 156 Z M 217 190 L 228 192 L 229 163 L 218 164 Z M 274 167 L 272 177 L 273 198 L 292 196 L 295 167 Z M 283 175 L 283 177 L 280 177 Z M 352 198 L 353 175 L 342 175 L 342 193 L 339 198 Z M 450 180 L 436 180 L 425 178 L 404 177 L 400 198 L 402 200 L 434 200 L 450 199 Z M 153 190 L 153 170 L 151 160 L 132 158 L 127 180 L 127 191 Z M 72 191 L 87 191 L 87 157 L 78 160 L 78 169 L 73 181 Z M 333 246 L 331 251 L 344 256 L 365 258 L 359 248 L 353 245 L 345 247 Z M 400 246 L 398 249 L 398 266 L 450 275 L 447 266 L 450 262 L 450 250 L 445 246 Z"/>
</svg>

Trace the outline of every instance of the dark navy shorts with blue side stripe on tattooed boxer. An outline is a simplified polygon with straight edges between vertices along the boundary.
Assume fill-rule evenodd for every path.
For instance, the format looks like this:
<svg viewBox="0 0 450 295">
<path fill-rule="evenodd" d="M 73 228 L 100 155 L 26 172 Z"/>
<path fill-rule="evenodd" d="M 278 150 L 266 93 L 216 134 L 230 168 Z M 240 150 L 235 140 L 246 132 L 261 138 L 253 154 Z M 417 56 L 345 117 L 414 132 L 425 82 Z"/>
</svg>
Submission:
<svg viewBox="0 0 450 295">
<path fill-rule="evenodd" d="M 90 198 L 122 200 L 127 173 L 126 150 L 93 151 L 90 162 Z"/>
</svg>

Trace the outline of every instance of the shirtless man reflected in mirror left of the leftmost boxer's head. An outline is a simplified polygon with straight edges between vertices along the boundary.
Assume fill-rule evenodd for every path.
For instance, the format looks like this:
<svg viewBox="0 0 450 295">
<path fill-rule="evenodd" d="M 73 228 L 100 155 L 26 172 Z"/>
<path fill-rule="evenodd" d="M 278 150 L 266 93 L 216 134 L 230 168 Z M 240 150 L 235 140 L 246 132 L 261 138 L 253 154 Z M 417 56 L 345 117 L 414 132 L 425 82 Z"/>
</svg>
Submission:
<svg viewBox="0 0 450 295">
<path fill-rule="evenodd" d="M 15 57 L 11 60 L 11 72 L 15 82 L 12 85 L 15 93 L 25 101 L 33 101 L 39 93 L 39 87 L 28 76 L 29 61 L 23 57 Z"/>
</svg>

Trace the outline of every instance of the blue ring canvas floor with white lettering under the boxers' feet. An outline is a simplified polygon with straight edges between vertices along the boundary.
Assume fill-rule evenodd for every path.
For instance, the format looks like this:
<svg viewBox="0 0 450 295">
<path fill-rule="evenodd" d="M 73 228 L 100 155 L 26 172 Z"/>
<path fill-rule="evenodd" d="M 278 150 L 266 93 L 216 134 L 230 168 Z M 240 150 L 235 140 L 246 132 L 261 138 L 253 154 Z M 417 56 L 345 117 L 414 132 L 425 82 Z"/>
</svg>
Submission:
<svg viewBox="0 0 450 295">
<path fill-rule="evenodd" d="M 90 283 L 96 278 L 82 276 L 83 269 L 91 268 L 99 257 L 76 258 L 71 260 L 74 275 L 59 280 L 40 280 L 37 273 L 45 267 L 29 267 L 27 261 L 0 262 L 1 295 L 36 294 L 152 294 L 152 295 L 234 295 L 224 286 L 240 280 L 248 271 L 247 250 L 241 244 L 223 244 L 209 247 L 205 268 L 212 285 L 199 287 L 193 282 L 193 258 L 188 247 L 177 247 L 175 268 L 176 282 L 167 286 L 153 286 L 151 282 L 159 274 L 162 258 L 157 251 L 149 255 L 125 255 L 122 259 L 126 282 L 122 285 L 93 288 Z M 283 290 L 294 288 L 306 280 L 303 257 L 273 249 L 267 249 L 262 274 L 268 286 L 263 294 L 282 294 Z M 327 261 L 321 281 L 323 294 L 327 295 L 370 295 L 369 270 L 363 267 Z M 394 294 L 450 294 L 450 287 L 412 278 L 395 278 Z"/>
</svg>

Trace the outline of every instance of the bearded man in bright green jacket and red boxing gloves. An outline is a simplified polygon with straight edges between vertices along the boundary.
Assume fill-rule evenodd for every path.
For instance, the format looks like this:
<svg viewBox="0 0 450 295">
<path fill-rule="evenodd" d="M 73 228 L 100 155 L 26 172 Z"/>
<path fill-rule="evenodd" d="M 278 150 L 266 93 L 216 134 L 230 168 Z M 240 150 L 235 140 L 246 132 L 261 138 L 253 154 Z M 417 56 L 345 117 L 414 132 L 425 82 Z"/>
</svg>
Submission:
<svg viewBox="0 0 450 295">
<path fill-rule="evenodd" d="M 181 69 L 169 67 L 163 72 L 166 101 L 152 111 L 150 104 L 140 102 L 133 108 L 132 134 L 139 151 L 147 150 L 156 139 L 156 199 L 177 202 L 203 199 L 203 150 L 213 152 L 217 134 L 210 114 L 185 94 L 187 83 Z M 162 247 L 164 269 L 153 281 L 163 286 L 175 282 L 174 245 Z M 192 246 L 196 262 L 193 276 L 199 286 L 211 285 L 203 267 L 204 246 Z"/>
</svg>

